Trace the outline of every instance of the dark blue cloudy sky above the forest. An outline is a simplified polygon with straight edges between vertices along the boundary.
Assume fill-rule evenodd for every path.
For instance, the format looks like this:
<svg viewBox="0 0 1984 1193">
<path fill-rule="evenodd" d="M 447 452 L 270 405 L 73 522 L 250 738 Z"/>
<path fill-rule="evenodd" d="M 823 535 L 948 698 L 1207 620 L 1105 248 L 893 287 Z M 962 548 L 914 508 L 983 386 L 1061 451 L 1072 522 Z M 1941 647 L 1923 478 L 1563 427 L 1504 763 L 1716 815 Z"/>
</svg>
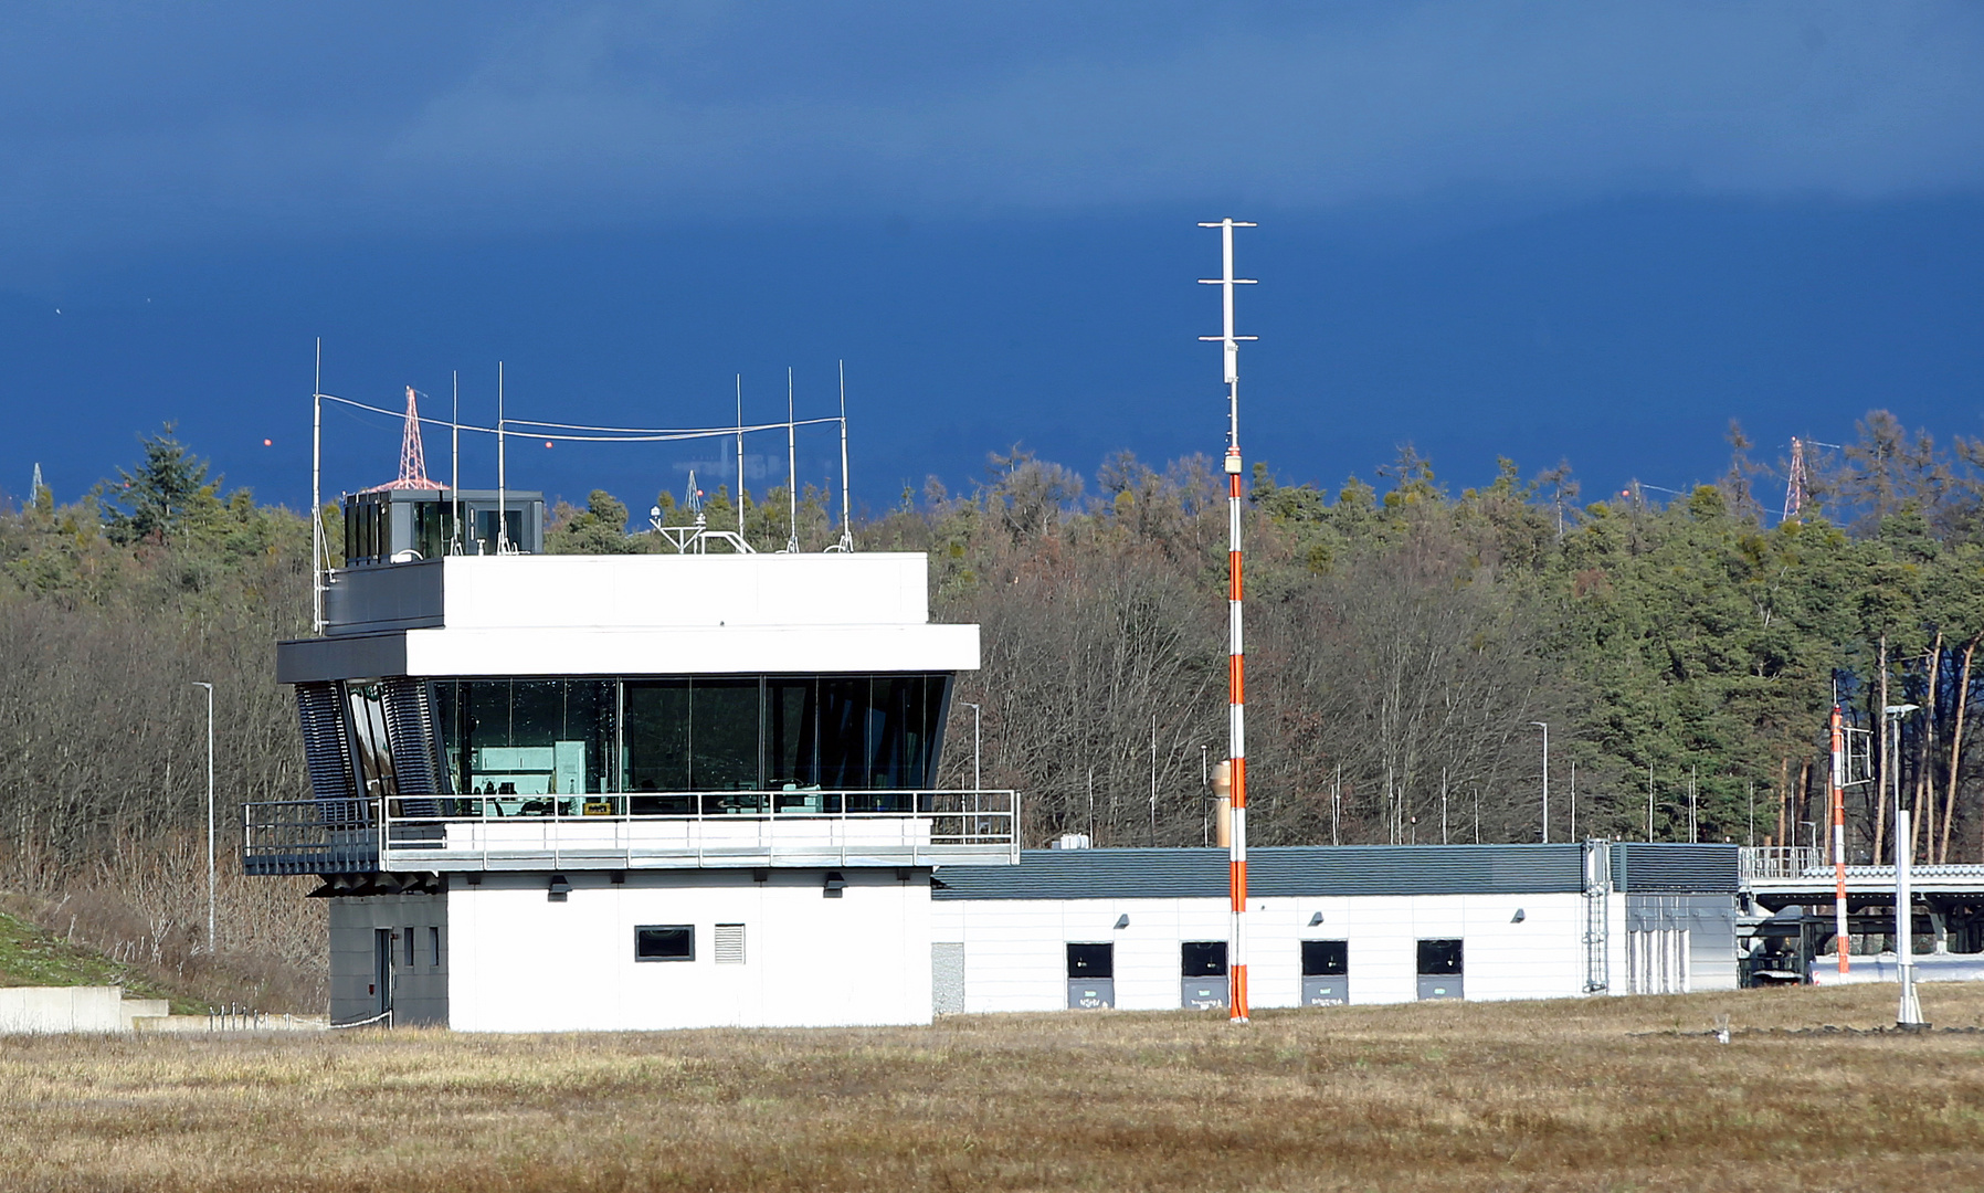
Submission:
<svg viewBox="0 0 1984 1193">
<path fill-rule="evenodd" d="M 177 419 L 300 504 L 317 335 L 325 389 L 442 415 L 458 371 L 474 421 L 498 359 L 514 415 L 665 425 L 788 365 L 827 413 L 845 359 L 871 506 L 1014 443 L 1216 453 L 1222 214 L 1290 480 L 1984 435 L 1974 4 L 71 2 L 0 16 L 0 492 Z M 722 455 L 518 451 L 637 506 Z M 395 453 L 327 421 L 333 490 Z"/>
</svg>

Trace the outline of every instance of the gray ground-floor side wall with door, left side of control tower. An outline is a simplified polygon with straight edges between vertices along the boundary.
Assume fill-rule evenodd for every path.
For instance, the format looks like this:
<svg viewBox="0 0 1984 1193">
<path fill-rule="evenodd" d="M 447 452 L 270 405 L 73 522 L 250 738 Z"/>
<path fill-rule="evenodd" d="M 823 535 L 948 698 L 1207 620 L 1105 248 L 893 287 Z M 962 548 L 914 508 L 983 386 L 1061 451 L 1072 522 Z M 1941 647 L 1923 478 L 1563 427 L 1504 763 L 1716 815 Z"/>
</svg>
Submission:
<svg viewBox="0 0 1984 1193">
<path fill-rule="evenodd" d="M 448 897 L 359 895 L 331 899 L 331 1022 L 379 1014 L 377 933 L 389 931 L 385 973 L 393 1022 L 448 1026 Z M 409 963 L 407 943 L 413 941 Z M 436 951 L 438 943 L 438 951 Z"/>
</svg>

